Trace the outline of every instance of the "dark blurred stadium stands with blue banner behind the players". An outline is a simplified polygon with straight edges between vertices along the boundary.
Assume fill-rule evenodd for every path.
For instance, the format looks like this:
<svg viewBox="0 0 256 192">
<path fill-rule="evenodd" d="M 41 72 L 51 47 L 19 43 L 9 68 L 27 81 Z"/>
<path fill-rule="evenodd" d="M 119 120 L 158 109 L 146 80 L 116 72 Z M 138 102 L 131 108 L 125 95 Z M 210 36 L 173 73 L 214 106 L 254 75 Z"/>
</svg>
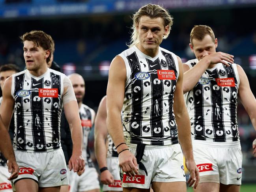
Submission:
<svg viewBox="0 0 256 192">
<path fill-rule="evenodd" d="M 43 30 L 55 41 L 54 61 L 62 72 L 84 77 L 84 103 L 97 112 L 99 101 L 106 94 L 109 64 L 127 48 L 131 15 L 147 3 L 163 5 L 174 17 L 170 35 L 161 47 L 180 56 L 183 62 L 194 58 L 189 49 L 192 27 L 211 26 L 218 38 L 217 51 L 235 56 L 235 63 L 247 73 L 255 96 L 256 0 L 0 0 L 0 65 L 15 63 L 23 69 L 19 36 L 30 30 Z M 256 131 L 241 103 L 238 121 L 245 184 L 241 191 L 255 192 L 252 141 Z M 90 145 L 93 147 L 92 140 Z"/>
</svg>

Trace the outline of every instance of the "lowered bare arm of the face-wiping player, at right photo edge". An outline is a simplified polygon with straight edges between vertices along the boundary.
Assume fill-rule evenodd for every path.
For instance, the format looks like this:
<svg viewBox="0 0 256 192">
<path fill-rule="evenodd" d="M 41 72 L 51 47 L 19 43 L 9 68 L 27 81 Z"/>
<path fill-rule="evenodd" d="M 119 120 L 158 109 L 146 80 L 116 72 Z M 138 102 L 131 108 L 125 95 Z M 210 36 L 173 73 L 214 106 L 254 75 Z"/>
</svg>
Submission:
<svg viewBox="0 0 256 192">
<path fill-rule="evenodd" d="M 240 84 L 238 88 L 238 96 L 243 104 L 245 110 L 247 111 L 252 125 L 256 130 L 256 99 L 250 89 L 249 80 L 245 74 L 245 71 L 240 65 L 237 65 L 237 71 L 240 78 Z M 256 139 L 254 140 L 253 146 L 253 155 L 256 157 Z"/>
</svg>

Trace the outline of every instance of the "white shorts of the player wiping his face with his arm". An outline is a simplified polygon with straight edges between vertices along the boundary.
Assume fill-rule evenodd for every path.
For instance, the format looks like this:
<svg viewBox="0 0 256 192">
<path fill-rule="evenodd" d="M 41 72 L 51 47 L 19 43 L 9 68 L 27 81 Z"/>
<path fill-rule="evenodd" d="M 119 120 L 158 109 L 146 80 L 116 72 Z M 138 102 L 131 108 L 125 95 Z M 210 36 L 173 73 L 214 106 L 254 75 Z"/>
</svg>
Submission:
<svg viewBox="0 0 256 192">
<path fill-rule="evenodd" d="M 227 147 L 225 144 L 204 145 L 193 141 L 193 153 L 200 176 L 219 175 L 213 183 L 241 185 L 243 157 L 240 144 Z"/>
</svg>

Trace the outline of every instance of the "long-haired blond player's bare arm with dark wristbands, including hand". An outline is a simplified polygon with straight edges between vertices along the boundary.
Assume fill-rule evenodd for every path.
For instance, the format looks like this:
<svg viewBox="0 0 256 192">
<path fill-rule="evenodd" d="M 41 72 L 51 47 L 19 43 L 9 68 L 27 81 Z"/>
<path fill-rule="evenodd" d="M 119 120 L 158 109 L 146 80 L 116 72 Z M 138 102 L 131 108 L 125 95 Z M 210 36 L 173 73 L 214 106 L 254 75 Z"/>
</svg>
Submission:
<svg viewBox="0 0 256 192">
<path fill-rule="evenodd" d="M 125 142 L 121 123 L 125 81 L 125 63 L 120 56 L 116 56 L 110 65 L 107 87 L 107 127 L 115 146 Z M 138 165 L 135 156 L 129 150 L 125 149 L 128 149 L 125 144 L 117 148 L 118 154 L 122 151 L 118 155 L 121 169 L 129 176 L 138 174 Z"/>
</svg>

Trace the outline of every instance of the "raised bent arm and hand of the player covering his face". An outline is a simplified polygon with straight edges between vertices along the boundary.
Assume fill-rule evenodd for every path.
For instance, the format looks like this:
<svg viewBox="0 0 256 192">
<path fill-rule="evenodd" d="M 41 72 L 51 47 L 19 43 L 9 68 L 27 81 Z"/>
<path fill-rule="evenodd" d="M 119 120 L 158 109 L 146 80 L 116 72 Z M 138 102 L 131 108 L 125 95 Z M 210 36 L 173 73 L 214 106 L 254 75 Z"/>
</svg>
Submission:
<svg viewBox="0 0 256 192">
<path fill-rule="evenodd" d="M 206 69 L 211 64 L 217 64 L 217 63 L 223 63 L 224 65 L 229 66 L 229 63 L 234 63 L 232 55 L 223 53 L 223 52 L 217 52 L 213 54 L 209 54 L 202 58 L 192 69 L 189 68 L 187 64 L 183 64 L 183 93 L 187 93 L 190 91 L 194 86 L 197 84 L 200 77 L 204 74 Z"/>
</svg>

